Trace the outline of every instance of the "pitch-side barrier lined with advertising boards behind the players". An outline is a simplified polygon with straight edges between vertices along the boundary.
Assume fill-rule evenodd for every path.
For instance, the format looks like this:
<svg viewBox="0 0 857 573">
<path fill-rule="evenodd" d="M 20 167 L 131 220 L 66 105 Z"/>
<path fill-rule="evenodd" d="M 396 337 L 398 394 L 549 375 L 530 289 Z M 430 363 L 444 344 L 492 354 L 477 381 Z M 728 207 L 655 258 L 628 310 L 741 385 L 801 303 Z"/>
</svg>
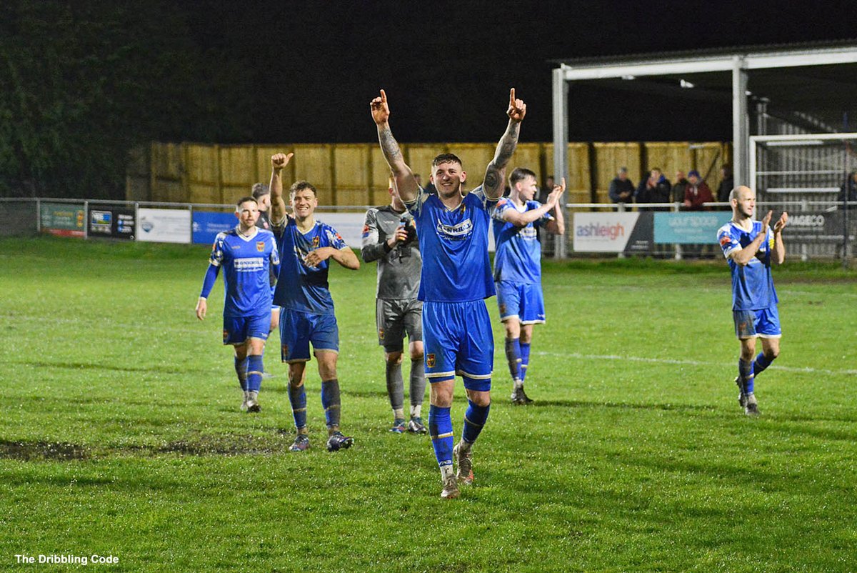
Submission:
<svg viewBox="0 0 857 573">
<path fill-rule="evenodd" d="M 655 256 L 709 258 L 721 255 L 716 230 L 731 217 L 728 203 L 706 203 L 710 210 L 686 211 L 680 203 L 567 203 L 566 234 L 556 237 L 540 231 L 545 256 Z M 854 205 L 857 207 L 857 205 Z M 363 214 L 369 206 L 320 206 L 320 219 L 336 226 L 347 242 L 359 246 Z M 778 216 L 789 212 L 785 238 L 789 257 L 807 259 L 854 258 L 857 211 L 831 201 L 759 202 L 758 217 L 768 209 Z M 210 243 L 210 231 L 197 227 L 217 218 L 222 228 L 234 226 L 234 205 L 220 203 L 130 202 L 54 198 L 0 199 L 0 236 L 38 233 L 75 238 L 114 238 L 175 243 Z M 146 214 L 185 213 L 176 236 L 143 238 Z M 850 218 L 846 218 L 848 214 Z M 141 216 L 142 214 L 142 216 Z M 205 217 L 205 219 L 203 219 Z M 198 222 L 199 218 L 199 222 Z M 342 226 L 343 228 L 340 228 Z M 848 233 L 844 229 L 848 228 Z M 616 237 L 608 234 L 615 231 Z M 601 243 L 591 239 L 599 238 Z M 584 240 L 585 239 L 585 240 Z"/>
</svg>

